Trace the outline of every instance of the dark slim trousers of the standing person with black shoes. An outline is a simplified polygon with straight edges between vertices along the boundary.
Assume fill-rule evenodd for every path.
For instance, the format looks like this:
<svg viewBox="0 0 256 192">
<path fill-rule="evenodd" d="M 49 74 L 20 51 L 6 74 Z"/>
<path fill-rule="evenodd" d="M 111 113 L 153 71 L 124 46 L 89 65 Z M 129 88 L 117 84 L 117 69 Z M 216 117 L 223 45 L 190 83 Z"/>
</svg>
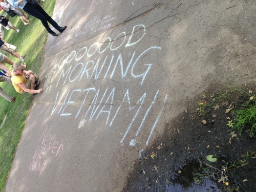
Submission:
<svg viewBox="0 0 256 192">
<path fill-rule="evenodd" d="M 23 10 L 26 11 L 28 14 L 38 18 L 41 21 L 42 25 L 44 25 L 44 27 L 46 28 L 48 33 L 51 33 L 53 31 L 51 30 L 47 22 L 49 22 L 55 29 L 59 31 L 59 25 L 55 22 L 55 20 L 52 19 L 51 16 L 47 14 L 47 12 L 45 12 L 44 9 L 41 8 L 38 3 L 36 3 L 35 0 L 29 0 L 28 3 L 26 3 L 26 5 L 24 6 Z"/>
</svg>

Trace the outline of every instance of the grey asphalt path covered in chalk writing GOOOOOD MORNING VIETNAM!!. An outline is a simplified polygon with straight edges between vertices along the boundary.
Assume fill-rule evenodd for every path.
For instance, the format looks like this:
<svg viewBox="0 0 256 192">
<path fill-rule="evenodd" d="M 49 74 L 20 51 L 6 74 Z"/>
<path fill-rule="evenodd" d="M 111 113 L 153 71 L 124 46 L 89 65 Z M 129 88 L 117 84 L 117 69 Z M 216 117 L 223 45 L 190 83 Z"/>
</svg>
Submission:
<svg viewBox="0 0 256 192">
<path fill-rule="evenodd" d="M 212 84 L 255 82 L 255 2 L 57 0 L 6 191 L 121 191 Z M 253 67 L 254 66 L 254 67 Z"/>
</svg>

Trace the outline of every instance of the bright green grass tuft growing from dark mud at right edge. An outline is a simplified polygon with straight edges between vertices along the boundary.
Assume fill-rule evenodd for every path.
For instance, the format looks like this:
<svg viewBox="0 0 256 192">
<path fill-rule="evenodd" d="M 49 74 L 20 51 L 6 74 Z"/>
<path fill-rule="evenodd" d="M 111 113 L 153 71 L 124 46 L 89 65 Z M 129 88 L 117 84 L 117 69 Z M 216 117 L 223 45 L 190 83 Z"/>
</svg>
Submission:
<svg viewBox="0 0 256 192">
<path fill-rule="evenodd" d="M 233 127 L 238 131 L 241 136 L 243 129 L 246 125 L 249 125 L 249 129 L 246 131 L 250 137 L 254 137 L 256 132 L 256 99 L 250 100 L 245 105 L 242 106 L 242 109 L 232 112 L 233 115 Z"/>
</svg>

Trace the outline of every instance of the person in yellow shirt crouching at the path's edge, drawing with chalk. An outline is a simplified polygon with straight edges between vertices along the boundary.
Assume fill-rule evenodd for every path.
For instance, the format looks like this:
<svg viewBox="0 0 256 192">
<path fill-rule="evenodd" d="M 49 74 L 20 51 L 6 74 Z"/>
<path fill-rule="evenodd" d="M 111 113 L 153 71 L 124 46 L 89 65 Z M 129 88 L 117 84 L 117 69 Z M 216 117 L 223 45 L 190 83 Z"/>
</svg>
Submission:
<svg viewBox="0 0 256 192">
<path fill-rule="evenodd" d="M 36 95 L 42 93 L 44 89 L 35 90 L 39 86 L 39 77 L 33 71 L 25 71 L 25 66 L 22 63 L 15 62 L 12 70 L 12 84 L 18 93 L 31 93 Z"/>
</svg>

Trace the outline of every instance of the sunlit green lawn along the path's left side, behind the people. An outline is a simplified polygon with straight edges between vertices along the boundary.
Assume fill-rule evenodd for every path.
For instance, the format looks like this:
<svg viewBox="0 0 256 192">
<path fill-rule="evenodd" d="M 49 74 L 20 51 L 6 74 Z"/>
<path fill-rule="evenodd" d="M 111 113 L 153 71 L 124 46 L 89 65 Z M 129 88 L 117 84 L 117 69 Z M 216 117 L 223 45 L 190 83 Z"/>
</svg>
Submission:
<svg viewBox="0 0 256 192">
<path fill-rule="evenodd" d="M 52 15 L 53 13 L 54 4 L 55 1 L 44 2 L 44 9 L 49 15 Z M 3 13 L 3 11 L 0 12 L 0 14 Z M 7 17 L 8 16 L 9 15 L 7 15 Z M 48 33 L 42 26 L 40 20 L 32 16 L 29 18 L 32 18 L 32 20 L 28 26 L 24 26 L 17 16 L 11 18 L 10 20 L 12 24 L 20 29 L 20 31 L 17 33 L 11 29 L 4 29 L 3 39 L 9 44 L 16 46 L 20 55 L 27 55 L 25 59 L 27 69 L 40 74 L 39 70 L 45 57 L 45 45 Z M 19 59 L 10 55 L 7 56 L 13 61 L 19 62 Z M 12 70 L 10 65 L 6 64 L 6 66 Z M 4 116 L 7 115 L 2 129 L 0 129 L 0 191 L 3 191 L 8 172 L 14 158 L 15 149 L 25 126 L 25 120 L 28 115 L 33 96 L 28 93 L 16 93 L 12 84 L 6 82 L 0 83 L 0 86 L 10 96 L 17 96 L 15 103 L 10 103 L 3 97 L 0 97 L 0 124 L 4 119 Z"/>
</svg>

